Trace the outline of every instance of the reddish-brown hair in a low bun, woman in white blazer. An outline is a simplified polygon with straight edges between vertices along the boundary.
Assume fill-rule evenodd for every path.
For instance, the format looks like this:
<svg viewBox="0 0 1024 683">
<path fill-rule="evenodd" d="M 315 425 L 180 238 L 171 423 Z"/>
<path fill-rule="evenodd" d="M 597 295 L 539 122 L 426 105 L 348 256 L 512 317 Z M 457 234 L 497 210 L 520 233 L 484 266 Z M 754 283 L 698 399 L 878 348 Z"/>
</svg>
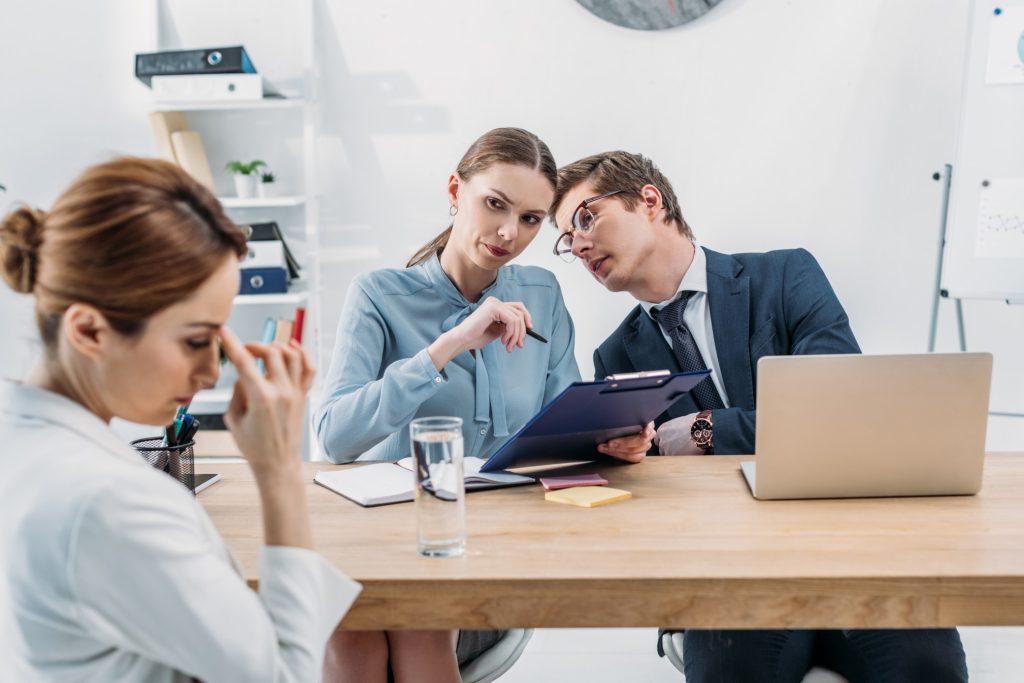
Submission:
<svg viewBox="0 0 1024 683">
<path fill-rule="evenodd" d="M 190 296 L 224 258 L 246 253 L 242 230 L 179 167 L 122 158 L 87 169 L 47 214 L 18 208 L 0 227 L 0 265 L 14 291 L 36 297 L 46 348 L 59 321 L 87 303 L 120 334 Z"/>
</svg>

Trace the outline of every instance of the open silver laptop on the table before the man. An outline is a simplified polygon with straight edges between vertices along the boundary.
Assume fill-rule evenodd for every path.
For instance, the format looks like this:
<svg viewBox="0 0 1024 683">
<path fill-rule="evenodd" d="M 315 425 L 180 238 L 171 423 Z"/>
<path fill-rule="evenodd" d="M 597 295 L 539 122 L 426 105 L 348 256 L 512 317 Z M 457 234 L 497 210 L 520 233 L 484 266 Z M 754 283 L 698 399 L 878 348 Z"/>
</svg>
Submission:
<svg viewBox="0 0 1024 683">
<path fill-rule="evenodd" d="M 990 353 L 758 361 L 760 500 L 972 495 L 981 488 Z"/>
</svg>

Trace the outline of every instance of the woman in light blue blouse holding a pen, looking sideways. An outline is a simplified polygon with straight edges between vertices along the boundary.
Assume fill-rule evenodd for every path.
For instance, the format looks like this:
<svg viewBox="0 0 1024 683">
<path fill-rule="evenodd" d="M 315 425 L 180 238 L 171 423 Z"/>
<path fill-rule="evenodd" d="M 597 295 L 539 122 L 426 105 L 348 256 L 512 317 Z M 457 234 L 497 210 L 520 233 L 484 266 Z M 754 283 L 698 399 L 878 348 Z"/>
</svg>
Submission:
<svg viewBox="0 0 1024 683">
<path fill-rule="evenodd" d="M 580 379 L 572 321 L 554 275 L 508 265 L 532 242 L 554 197 L 548 146 L 518 128 L 477 139 L 449 178 L 452 224 L 404 269 L 355 279 L 316 411 L 335 463 L 410 455 L 409 423 L 463 419 L 465 453 L 486 458 L 542 405 Z M 526 337 L 532 329 L 547 344 Z M 637 460 L 648 428 L 601 445 Z M 458 681 L 453 632 L 339 632 L 346 680 Z M 465 642 L 459 659 L 483 649 Z M 473 651 L 473 650 L 476 651 Z M 346 656 L 358 652 L 361 656 Z"/>
</svg>

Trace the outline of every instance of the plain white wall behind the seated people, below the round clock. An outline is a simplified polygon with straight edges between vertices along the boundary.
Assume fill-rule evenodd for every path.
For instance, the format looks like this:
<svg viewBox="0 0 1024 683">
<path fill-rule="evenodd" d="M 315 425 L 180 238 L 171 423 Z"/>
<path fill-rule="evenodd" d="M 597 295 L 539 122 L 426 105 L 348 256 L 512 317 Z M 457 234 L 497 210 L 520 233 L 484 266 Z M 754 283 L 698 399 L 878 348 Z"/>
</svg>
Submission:
<svg viewBox="0 0 1024 683">
<path fill-rule="evenodd" d="M 135 26 L 133 5 L 96 12 L 65 2 L 53 24 L 53 11 L 19 5 L 19 20 L 0 27 L 5 53 L 38 59 L 4 60 L 7 92 L 7 83 L 41 79 L 51 92 L 85 90 L 62 58 L 80 52 L 76 62 L 88 67 L 81 99 L 43 91 L 0 108 L 8 197 L 45 203 L 103 150 L 150 150 L 144 91 L 130 71 L 146 27 Z M 316 0 L 315 8 L 326 253 L 340 258 L 337 248 L 356 246 L 371 255 L 325 263 L 328 342 L 348 280 L 401 264 L 438 231 L 444 181 L 462 152 L 492 127 L 517 125 L 561 163 L 612 147 L 643 152 L 674 181 L 703 244 L 807 247 L 865 351 L 925 349 L 941 200 L 931 174 L 954 150 L 967 0 L 725 0 L 658 33 L 605 24 L 571 0 Z M 225 33 L 256 32 L 272 44 L 271 23 L 237 12 L 221 20 Z M 13 24 L 46 27 L 47 40 Z M 52 45 L 66 53 L 47 56 Z M 272 69 L 272 54 L 253 56 Z M 79 101 L 96 104 L 84 111 Z M 561 279 L 587 375 L 590 351 L 632 302 L 550 256 L 553 238 L 542 233 L 524 259 Z M 955 348 L 950 309 L 945 302 L 940 350 Z M 966 317 L 969 347 L 996 355 L 993 410 L 1024 412 L 1024 309 L 969 302 Z M 0 370 L 18 372 L 7 338 L 0 344 Z M 993 419 L 989 446 L 1024 447 L 1024 420 Z"/>
</svg>

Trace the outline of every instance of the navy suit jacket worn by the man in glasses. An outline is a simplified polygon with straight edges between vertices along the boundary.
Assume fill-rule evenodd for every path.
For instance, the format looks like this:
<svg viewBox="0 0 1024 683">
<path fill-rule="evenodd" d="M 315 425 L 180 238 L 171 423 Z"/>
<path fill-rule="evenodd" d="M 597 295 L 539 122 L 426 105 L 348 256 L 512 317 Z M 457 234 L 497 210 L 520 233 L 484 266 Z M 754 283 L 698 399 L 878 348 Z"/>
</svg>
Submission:
<svg viewBox="0 0 1024 683">
<path fill-rule="evenodd" d="M 758 358 L 859 353 L 843 305 L 809 252 L 708 255 L 708 305 L 722 381 L 731 408 L 714 411 L 715 454 L 754 453 Z M 637 306 L 594 351 L 598 379 L 679 364 L 657 324 Z M 687 394 L 655 420 L 696 413 Z"/>
</svg>

